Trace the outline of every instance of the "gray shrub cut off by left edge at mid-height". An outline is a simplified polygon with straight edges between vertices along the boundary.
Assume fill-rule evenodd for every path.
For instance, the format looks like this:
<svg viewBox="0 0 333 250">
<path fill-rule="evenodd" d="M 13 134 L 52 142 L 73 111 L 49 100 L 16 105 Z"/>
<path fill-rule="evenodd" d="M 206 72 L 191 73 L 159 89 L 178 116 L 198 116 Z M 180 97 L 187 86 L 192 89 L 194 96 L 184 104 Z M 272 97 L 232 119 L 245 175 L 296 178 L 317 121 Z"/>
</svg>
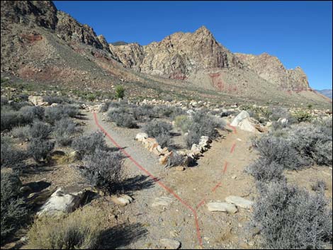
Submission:
<svg viewBox="0 0 333 250">
<path fill-rule="evenodd" d="M 16 149 L 10 142 L 4 140 L 4 137 L 1 137 L 1 168 L 15 168 L 20 166 L 24 159 L 26 159 L 26 152 Z"/>
</svg>

